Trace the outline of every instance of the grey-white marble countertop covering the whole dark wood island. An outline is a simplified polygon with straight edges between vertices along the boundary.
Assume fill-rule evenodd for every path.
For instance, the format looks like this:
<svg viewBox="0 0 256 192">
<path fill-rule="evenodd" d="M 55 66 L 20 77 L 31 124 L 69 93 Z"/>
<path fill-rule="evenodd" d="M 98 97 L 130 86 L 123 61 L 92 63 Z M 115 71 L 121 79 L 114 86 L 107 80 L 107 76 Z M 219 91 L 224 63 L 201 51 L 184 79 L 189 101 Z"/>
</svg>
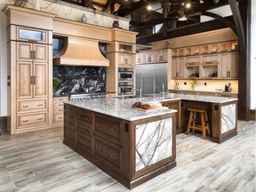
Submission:
<svg viewBox="0 0 256 192">
<path fill-rule="evenodd" d="M 166 114 L 171 114 L 177 112 L 175 109 L 163 108 L 154 111 L 140 111 L 132 107 L 132 103 L 139 101 L 140 98 L 109 98 L 109 99 L 93 99 L 93 100 L 68 100 L 65 103 L 76 106 L 78 108 L 84 108 L 87 110 L 92 110 L 101 114 L 108 116 L 115 116 L 128 121 L 140 120 L 153 116 L 162 116 Z M 144 95 L 141 101 L 167 101 L 167 100 L 193 100 L 201 102 L 211 102 L 211 103 L 225 103 L 229 101 L 237 100 L 236 98 L 224 98 L 224 97 L 211 97 L 211 96 L 200 96 L 200 95 L 185 95 L 176 93 L 158 93 Z"/>
</svg>

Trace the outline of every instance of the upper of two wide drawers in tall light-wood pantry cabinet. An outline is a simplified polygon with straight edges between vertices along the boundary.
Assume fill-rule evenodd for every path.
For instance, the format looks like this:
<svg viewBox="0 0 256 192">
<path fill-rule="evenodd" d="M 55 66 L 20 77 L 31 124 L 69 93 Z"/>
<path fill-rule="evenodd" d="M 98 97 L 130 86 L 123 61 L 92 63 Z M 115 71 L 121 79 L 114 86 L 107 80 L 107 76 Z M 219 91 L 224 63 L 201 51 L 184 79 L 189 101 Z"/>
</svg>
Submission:
<svg viewBox="0 0 256 192">
<path fill-rule="evenodd" d="M 30 111 L 40 111 L 46 110 L 47 105 L 46 100 L 32 100 L 32 101 L 18 101 L 18 112 L 30 112 Z"/>
</svg>

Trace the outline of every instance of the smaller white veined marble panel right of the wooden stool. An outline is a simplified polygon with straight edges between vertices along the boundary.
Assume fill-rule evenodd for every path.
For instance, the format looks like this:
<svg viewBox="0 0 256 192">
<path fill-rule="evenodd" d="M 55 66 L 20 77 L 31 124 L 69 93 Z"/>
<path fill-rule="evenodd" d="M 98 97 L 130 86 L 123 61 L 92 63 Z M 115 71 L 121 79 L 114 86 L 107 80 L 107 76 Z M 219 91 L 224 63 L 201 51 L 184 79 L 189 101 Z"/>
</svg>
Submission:
<svg viewBox="0 0 256 192">
<path fill-rule="evenodd" d="M 221 133 L 236 128 L 236 104 L 221 107 Z"/>
</svg>

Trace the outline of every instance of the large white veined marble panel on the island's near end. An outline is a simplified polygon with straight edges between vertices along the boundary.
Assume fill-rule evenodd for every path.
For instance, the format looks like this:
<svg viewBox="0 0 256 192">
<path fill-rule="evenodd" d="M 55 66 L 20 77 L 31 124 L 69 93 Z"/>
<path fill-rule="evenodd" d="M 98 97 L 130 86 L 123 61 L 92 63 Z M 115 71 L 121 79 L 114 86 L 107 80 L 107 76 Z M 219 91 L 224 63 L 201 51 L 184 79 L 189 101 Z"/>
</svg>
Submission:
<svg viewBox="0 0 256 192">
<path fill-rule="evenodd" d="M 172 118 L 136 125 L 136 172 L 172 156 Z"/>
</svg>

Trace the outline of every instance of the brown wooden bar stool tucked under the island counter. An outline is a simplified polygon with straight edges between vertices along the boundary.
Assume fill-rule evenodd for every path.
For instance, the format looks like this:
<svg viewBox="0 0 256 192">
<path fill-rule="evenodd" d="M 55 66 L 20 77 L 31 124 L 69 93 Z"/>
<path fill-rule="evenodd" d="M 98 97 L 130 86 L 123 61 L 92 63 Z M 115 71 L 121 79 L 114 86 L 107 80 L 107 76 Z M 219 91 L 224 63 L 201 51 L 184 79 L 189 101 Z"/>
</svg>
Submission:
<svg viewBox="0 0 256 192">
<path fill-rule="evenodd" d="M 190 129 L 192 129 L 193 132 L 195 132 L 195 130 L 203 132 L 203 139 L 206 138 L 206 130 L 207 130 L 207 133 L 211 135 L 208 116 L 207 116 L 207 110 L 199 109 L 199 108 L 187 108 L 187 110 L 190 111 L 189 119 L 188 119 L 188 128 L 187 128 L 188 135 L 189 135 Z M 201 124 L 196 124 L 196 113 L 200 113 Z"/>
</svg>

